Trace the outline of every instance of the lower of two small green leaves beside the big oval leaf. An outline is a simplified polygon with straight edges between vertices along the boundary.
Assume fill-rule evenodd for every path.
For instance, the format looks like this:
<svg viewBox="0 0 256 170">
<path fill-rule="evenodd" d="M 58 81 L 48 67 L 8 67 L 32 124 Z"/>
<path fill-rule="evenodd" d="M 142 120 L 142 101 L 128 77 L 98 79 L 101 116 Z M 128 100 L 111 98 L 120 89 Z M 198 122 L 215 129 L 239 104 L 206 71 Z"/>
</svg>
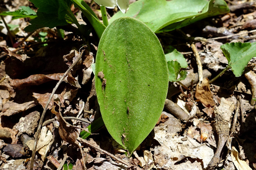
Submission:
<svg viewBox="0 0 256 170">
<path fill-rule="evenodd" d="M 187 76 L 187 72 L 185 70 L 180 71 L 180 63 L 178 61 L 168 61 L 167 62 L 168 70 L 169 70 L 169 81 L 177 82 L 180 80 L 184 80 Z M 178 75 L 180 74 L 180 78 Z"/>
</svg>

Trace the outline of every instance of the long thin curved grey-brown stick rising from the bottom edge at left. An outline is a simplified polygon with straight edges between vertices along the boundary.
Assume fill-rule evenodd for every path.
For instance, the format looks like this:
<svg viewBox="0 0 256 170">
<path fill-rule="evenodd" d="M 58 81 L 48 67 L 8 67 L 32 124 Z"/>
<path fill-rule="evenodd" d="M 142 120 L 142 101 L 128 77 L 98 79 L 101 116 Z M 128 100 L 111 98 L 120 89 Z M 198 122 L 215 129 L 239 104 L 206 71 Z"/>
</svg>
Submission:
<svg viewBox="0 0 256 170">
<path fill-rule="evenodd" d="M 38 123 L 38 127 L 37 127 L 37 131 L 36 131 L 36 136 L 35 136 L 35 142 L 34 142 L 34 147 L 33 147 L 33 152 L 32 152 L 32 157 L 31 157 L 31 161 L 30 161 L 30 170 L 33 170 L 33 166 L 34 166 L 34 159 L 36 156 L 36 146 L 38 143 L 38 136 L 40 133 L 40 129 L 42 127 L 42 123 L 44 120 L 44 116 L 46 114 L 46 110 L 50 104 L 50 101 L 52 100 L 52 97 L 54 95 L 54 93 L 56 92 L 56 90 L 58 89 L 58 87 L 60 86 L 60 83 L 64 80 L 64 78 L 68 75 L 68 72 L 70 72 L 70 70 L 78 63 L 78 61 L 81 59 L 82 53 L 81 55 L 78 57 L 78 59 L 68 68 L 68 70 L 64 73 L 64 75 L 60 78 L 59 82 L 56 84 L 56 86 L 54 87 L 54 89 L 52 90 L 52 94 L 50 96 L 50 98 L 48 99 L 46 106 L 44 107 L 44 111 L 42 113 L 41 119 Z"/>
</svg>

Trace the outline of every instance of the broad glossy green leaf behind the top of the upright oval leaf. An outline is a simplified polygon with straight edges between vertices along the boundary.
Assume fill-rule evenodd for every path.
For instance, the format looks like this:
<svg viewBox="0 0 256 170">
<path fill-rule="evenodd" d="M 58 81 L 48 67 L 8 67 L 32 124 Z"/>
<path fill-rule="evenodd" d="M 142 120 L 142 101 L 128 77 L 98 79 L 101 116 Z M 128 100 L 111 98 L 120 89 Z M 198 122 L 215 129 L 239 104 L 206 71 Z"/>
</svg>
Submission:
<svg viewBox="0 0 256 170">
<path fill-rule="evenodd" d="M 138 0 L 130 5 L 126 14 L 118 12 L 110 22 L 129 16 L 146 23 L 154 32 L 162 32 L 227 12 L 224 0 Z"/>
</svg>

